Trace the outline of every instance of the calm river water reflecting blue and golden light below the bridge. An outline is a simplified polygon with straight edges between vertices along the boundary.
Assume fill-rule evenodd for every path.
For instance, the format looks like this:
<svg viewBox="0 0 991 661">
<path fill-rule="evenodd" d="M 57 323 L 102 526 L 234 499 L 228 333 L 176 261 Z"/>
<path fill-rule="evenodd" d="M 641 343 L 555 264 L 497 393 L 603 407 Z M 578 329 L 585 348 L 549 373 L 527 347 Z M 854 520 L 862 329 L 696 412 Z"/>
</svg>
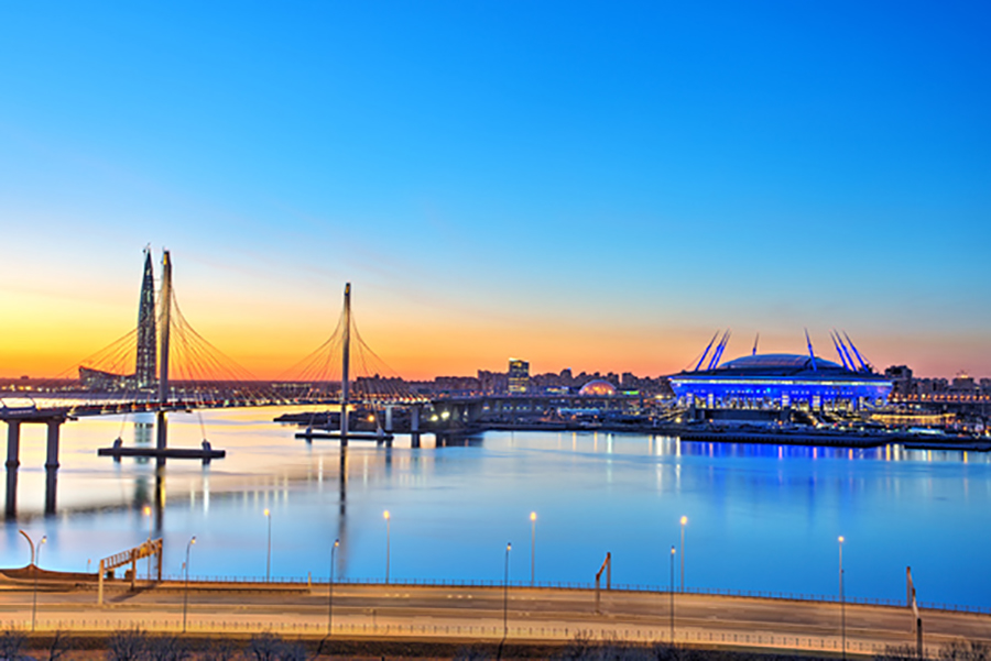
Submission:
<svg viewBox="0 0 991 661">
<path fill-rule="evenodd" d="M 172 447 L 198 447 L 205 433 L 228 456 L 171 461 L 164 505 L 151 516 L 154 464 L 96 455 L 118 436 L 153 439 L 146 422 L 65 425 L 52 517 L 42 516 L 44 429 L 22 427 L 19 517 L 0 536 L 0 564 L 28 564 L 19 528 L 47 536 L 42 568 L 95 571 L 152 526 L 165 540 L 165 573 L 176 576 L 192 536 L 193 575 L 264 576 L 270 559 L 273 577 L 315 580 L 329 573 L 335 539 L 337 575 L 371 580 L 384 577 L 388 541 L 393 581 L 501 581 L 512 542 L 513 581 L 530 581 L 534 558 L 538 582 L 589 583 L 611 552 L 613 583 L 666 587 L 672 546 L 676 581 L 680 573 L 687 516 L 688 587 L 835 595 L 842 535 L 848 595 L 904 599 L 911 565 L 921 602 L 991 606 L 987 454 L 549 432 L 438 448 L 426 434 L 420 449 L 409 438 L 392 448 L 352 442 L 342 478 L 338 444 L 295 439 L 294 427 L 271 421 L 279 412 L 173 415 Z"/>
</svg>

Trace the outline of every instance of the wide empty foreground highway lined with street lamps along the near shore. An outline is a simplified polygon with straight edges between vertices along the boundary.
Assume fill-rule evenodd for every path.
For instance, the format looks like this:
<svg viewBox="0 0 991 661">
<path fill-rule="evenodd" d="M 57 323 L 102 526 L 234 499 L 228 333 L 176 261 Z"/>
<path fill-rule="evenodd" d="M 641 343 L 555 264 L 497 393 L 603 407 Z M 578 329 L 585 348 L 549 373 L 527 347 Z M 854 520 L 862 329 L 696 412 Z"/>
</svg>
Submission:
<svg viewBox="0 0 991 661">
<path fill-rule="evenodd" d="M 182 581 L 129 592 L 109 583 L 106 604 L 96 605 L 91 584 L 43 580 L 37 593 L 37 629 L 99 634 L 141 627 L 182 630 Z M 671 640 L 671 594 L 606 591 L 596 613 L 593 590 L 511 585 L 505 612 L 508 640 L 564 645 L 578 632 L 592 639 L 639 642 Z M 465 643 L 503 637 L 502 586 L 364 585 L 334 586 L 334 636 L 340 639 L 396 639 Z M 30 628 L 32 583 L 0 583 L 0 626 Z M 319 639 L 327 632 L 328 586 L 305 583 L 207 583 L 188 590 L 188 631 L 233 635 L 271 630 Z M 837 603 L 675 594 L 675 641 L 706 647 L 807 650 L 839 654 Z M 927 649 L 950 640 L 991 643 L 991 615 L 923 610 Z M 915 645 L 912 613 L 901 606 L 846 606 L 847 650 L 873 654 L 889 645 Z"/>
</svg>

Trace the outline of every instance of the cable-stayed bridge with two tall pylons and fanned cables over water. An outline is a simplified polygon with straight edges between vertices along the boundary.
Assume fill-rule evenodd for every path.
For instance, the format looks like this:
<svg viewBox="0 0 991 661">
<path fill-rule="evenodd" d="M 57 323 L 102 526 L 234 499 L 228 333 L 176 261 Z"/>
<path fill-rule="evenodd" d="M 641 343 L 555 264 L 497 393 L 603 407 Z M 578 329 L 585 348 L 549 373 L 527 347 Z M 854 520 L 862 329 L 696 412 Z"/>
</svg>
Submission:
<svg viewBox="0 0 991 661">
<path fill-rule="evenodd" d="M 163 253 L 160 287 L 155 288 L 150 250 L 145 250 L 139 298 L 138 323 L 123 337 L 80 361 L 56 377 L 34 384 L 30 392 L 0 392 L 0 420 L 8 426 L 8 509 L 17 492 L 20 466 L 21 426 L 47 426 L 46 510 L 54 510 L 55 475 L 58 470 L 59 430 L 67 420 L 89 416 L 153 414 L 156 416 L 154 448 L 123 448 L 120 440 L 100 454 L 202 459 L 224 456 L 204 440 L 200 449 L 167 447 L 167 414 L 218 408 L 316 405 L 340 409 L 340 429 L 308 429 L 309 438 L 349 438 L 368 434 L 349 430 L 352 408 L 385 410 L 418 406 L 427 400 L 413 393 L 361 339 L 351 310 L 350 284 L 337 327 L 311 354 L 287 368 L 275 381 L 254 377 L 233 359 L 200 335 L 183 315 L 172 278 L 172 258 Z M 388 426 L 386 426 L 388 427 Z M 374 437 L 372 437 L 374 438 Z M 378 438 L 383 438 L 380 431 Z M 48 505 L 51 504 L 51 506 Z"/>
</svg>

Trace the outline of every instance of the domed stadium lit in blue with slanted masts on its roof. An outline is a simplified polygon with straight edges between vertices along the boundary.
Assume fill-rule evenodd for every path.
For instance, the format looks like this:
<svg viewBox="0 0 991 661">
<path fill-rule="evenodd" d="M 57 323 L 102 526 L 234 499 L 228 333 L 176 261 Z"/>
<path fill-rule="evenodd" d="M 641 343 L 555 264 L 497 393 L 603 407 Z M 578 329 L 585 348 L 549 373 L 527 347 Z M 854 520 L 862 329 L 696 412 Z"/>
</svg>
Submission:
<svg viewBox="0 0 991 661">
<path fill-rule="evenodd" d="M 856 410 L 884 404 L 891 381 L 874 372 L 846 333 L 831 339 L 840 363 L 815 355 L 812 342 L 807 354 L 759 354 L 754 344 L 752 355 L 720 363 L 727 331 L 711 357 L 715 337 L 695 368 L 673 375 L 671 385 L 684 405 L 705 408 Z"/>
</svg>

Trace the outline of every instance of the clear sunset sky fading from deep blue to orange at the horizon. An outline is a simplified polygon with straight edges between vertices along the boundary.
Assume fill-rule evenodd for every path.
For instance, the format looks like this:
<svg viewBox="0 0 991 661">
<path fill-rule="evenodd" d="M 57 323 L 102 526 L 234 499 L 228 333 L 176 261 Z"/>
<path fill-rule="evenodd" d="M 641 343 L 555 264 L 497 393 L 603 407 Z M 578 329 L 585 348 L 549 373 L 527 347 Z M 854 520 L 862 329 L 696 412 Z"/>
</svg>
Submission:
<svg viewBox="0 0 991 661">
<path fill-rule="evenodd" d="M 0 376 L 137 322 L 259 376 L 832 357 L 991 376 L 985 2 L 8 2 Z"/>
</svg>

